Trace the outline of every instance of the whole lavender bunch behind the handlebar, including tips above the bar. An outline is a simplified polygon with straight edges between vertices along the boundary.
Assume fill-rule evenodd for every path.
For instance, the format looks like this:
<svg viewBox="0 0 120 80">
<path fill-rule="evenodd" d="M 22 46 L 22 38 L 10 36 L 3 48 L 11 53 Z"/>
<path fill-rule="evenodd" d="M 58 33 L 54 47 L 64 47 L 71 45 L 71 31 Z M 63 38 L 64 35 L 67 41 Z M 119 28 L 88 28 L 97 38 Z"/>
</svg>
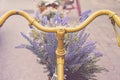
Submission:
<svg viewBox="0 0 120 80">
<path fill-rule="evenodd" d="M 41 24 L 44 23 L 44 19 Z M 68 19 L 60 17 L 59 13 L 55 14 L 52 21 L 52 24 L 68 24 Z M 57 80 L 54 76 L 57 72 L 55 51 L 58 42 L 56 34 L 40 32 L 32 27 L 30 36 L 23 33 L 21 35 L 30 44 L 21 44 L 16 48 L 26 48 L 32 51 L 40 58 L 39 63 L 45 65 L 44 69 L 49 72 L 48 75 L 51 79 Z M 85 30 L 65 35 L 65 80 L 96 80 L 95 73 L 105 70 L 103 67 L 95 64 L 100 60 L 102 54 L 96 50 L 96 42 L 87 40 L 89 35 L 85 33 Z"/>
</svg>

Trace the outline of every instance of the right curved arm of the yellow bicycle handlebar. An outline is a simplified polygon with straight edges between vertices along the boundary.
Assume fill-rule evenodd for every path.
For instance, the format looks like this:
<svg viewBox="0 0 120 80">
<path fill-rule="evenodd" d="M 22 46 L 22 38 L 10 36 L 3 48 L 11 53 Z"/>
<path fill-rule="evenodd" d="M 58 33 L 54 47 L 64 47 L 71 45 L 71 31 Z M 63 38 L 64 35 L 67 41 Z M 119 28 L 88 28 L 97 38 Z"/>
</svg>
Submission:
<svg viewBox="0 0 120 80">
<path fill-rule="evenodd" d="M 112 12 L 110 10 L 99 10 L 95 13 L 93 13 L 91 16 L 89 16 L 80 26 L 75 28 L 66 28 L 66 32 L 76 32 L 83 28 L 85 28 L 90 22 L 92 22 L 96 17 L 101 15 L 108 15 L 110 18 L 113 18 L 118 27 L 120 28 L 120 17 L 116 15 L 115 12 Z"/>
</svg>

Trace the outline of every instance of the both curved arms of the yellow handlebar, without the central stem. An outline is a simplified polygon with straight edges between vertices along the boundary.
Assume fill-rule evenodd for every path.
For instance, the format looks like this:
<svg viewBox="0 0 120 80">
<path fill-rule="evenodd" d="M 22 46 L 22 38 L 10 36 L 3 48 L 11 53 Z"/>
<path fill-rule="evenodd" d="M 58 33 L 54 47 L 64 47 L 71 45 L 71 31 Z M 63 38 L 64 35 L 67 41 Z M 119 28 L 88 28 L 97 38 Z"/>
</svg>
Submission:
<svg viewBox="0 0 120 80">
<path fill-rule="evenodd" d="M 30 24 L 34 25 L 36 28 L 38 28 L 39 30 L 45 31 L 45 32 L 57 32 L 57 28 L 49 28 L 49 27 L 43 27 L 42 25 L 40 25 L 37 21 L 35 21 L 34 18 L 30 17 L 29 14 L 27 14 L 24 11 L 16 11 L 16 10 L 11 10 L 8 11 L 5 15 L 3 15 L 0 18 L 0 26 L 2 26 L 2 24 L 6 21 L 6 19 L 12 15 L 21 15 L 24 18 L 26 18 Z M 114 21 L 116 22 L 117 26 L 120 27 L 120 17 L 117 16 L 117 14 L 115 12 L 112 12 L 110 10 L 99 10 L 95 13 L 93 13 L 90 17 L 88 17 L 88 19 L 86 19 L 81 25 L 79 25 L 78 27 L 69 27 L 69 28 L 64 28 L 65 32 L 76 32 L 79 31 L 83 28 L 85 28 L 90 22 L 92 22 L 96 17 L 101 16 L 101 15 L 108 15 L 109 17 L 113 18 Z"/>
</svg>

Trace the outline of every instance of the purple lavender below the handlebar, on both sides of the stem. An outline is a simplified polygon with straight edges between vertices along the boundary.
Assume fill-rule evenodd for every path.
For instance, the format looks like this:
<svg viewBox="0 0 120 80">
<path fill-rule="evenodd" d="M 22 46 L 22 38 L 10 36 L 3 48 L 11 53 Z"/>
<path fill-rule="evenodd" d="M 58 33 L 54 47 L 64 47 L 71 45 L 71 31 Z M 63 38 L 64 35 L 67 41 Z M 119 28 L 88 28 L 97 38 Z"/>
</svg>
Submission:
<svg viewBox="0 0 120 80">
<path fill-rule="evenodd" d="M 56 68 L 56 54 L 55 50 L 57 48 L 57 39 L 54 33 L 44 34 L 45 41 L 36 42 L 34 39 L 29 39 L 24 34 L 21 34 L 25 39 L 30 42 L 30 46 L 21 45 L 18 48 L 27 48 L 35 53 L 41 60 L 40 64 L 46 65 L 46 69 L 49 72 L 49 76 L 53 76 Z M 75 34 L 68 34 L 68 46 L 65 47 L 67 53 L 65 55 L 65 75 L 66 80 L 88 80 L 93 77 L 88 77 L 93 75 L 94 72 L 101 72 L 103 69 L 99 69 L 95 66 L 96 58 L 92 58 L 90 55 L 94 53 L 95 57 L 100 57 L 101 54 L 98 53 L 95 48 L 95 42 L 87 41 L 89 34 L 80 31 Z M 40 46 L 44 46 L 41 49 Z M 80 75 L 76 76 L 75 75 Z"/>
</svg>

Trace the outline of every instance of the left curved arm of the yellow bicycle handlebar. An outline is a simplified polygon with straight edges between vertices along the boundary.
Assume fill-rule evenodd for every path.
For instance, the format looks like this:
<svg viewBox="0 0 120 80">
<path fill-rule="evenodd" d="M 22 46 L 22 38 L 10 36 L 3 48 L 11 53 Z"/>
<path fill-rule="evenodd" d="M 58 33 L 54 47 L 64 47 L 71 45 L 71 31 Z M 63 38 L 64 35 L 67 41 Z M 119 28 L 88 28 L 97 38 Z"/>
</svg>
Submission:
<svg viewBox="0 0 120 80">
<path fill-rule="evenodd" d="M 30 24 L 34 25 L 39 30 L 42 30 L 42 31 L 45 31 L 45 32 L 56 32 L 57 31 L 56 28 L 43 27 L 42 25 L 40 25 L 34 18 L 32 18 L 26 12 L 24 12 L 24 11 L 16 11 L 16 10 L 10 10 L 6 14 L 4 14 L 0 18 L 0 26 L 2 26 L 3 23 L 7 20 L 7 18 L 12 16 L 12 15 L 21 15 L 21 16 L 23 16 L 25 19 L 27 19 L 29 21 Z"/>
</svg>

